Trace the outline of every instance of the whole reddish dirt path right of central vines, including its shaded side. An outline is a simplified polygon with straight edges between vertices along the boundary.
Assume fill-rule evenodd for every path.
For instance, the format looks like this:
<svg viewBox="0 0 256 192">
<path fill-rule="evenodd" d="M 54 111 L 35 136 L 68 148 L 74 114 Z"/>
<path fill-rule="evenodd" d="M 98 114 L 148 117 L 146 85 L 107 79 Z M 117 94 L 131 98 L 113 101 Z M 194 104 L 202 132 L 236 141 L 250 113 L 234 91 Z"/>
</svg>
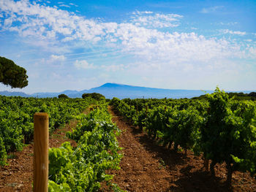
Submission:
<svg viewBox="0 0 256 192">
<path fill-rule="evenodd" d="M 211 177 L 203 168 L 203 160 L 188 151 L 176 153 L 157 145 L 139 128 L 126 123 L 109 108 L 112 121 L 122 133 L 118 137 L 121 153 L 121 169 L 113 183 L 126 191 L 256 191 L 256 181 L 248 173 L 235 172 L 233 186 L 225 186 L 225 165 L 216 167 L 217 177 Z"/>
</svg>

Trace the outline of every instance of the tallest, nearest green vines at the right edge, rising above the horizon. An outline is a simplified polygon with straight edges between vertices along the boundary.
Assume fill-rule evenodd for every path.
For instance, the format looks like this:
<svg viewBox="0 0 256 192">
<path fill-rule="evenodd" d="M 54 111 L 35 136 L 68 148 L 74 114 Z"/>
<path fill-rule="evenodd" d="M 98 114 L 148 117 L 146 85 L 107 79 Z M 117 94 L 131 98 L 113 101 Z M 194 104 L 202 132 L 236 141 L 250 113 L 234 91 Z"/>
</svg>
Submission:
<svg viewBox="0 0 256 192">
<path fill-rule="evenodd" d="M 209 110 L 202 128 L 202 150 L 213 166 L 225 161 L 227 182 L 240 169 L 256 173 L 256 106 L 252 101 L 233 101 L 227 93 L 216 89 L 208 95 Z"/>
</svg>

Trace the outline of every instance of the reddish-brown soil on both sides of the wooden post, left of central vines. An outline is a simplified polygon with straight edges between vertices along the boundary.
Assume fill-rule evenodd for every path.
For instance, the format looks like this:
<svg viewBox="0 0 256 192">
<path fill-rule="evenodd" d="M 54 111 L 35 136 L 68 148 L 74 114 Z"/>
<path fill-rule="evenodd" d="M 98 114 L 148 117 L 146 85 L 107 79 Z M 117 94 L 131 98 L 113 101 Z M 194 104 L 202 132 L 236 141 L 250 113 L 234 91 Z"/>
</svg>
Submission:
<svg viewBox="0 0 256 192">
<path fill-rule="evenodd" d="M 75 127 L 76 122 L 72 120 L 64 128 L 59 128 L 51 134 L 49 147 L 60 147 L 63 142 L 75 141 L 67 139 L 66 132 Z M 33 143 L 27 145 L 22 151 L 12 153 L 13 158 L 8 159 L 7 166 L 0 166 L 0 191 L 32 191 L 33 182 Z"/>
</svg>

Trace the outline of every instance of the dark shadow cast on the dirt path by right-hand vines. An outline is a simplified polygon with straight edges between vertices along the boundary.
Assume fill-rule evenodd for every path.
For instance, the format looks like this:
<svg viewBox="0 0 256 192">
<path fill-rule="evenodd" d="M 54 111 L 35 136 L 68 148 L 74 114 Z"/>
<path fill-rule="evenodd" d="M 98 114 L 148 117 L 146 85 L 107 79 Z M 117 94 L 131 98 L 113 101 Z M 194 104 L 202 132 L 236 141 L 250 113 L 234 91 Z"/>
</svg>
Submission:
<svg viewBox="0 0 256 192">
<path fill-rule="evenodd" d="M 121 115 L 119 115 L 117 111 L 114 112 L 121 118 Z M 121 119 L 132 128 L 132 134 L 138 138 L 140 144 L 142 144 L 148 152 L 154 154 L 154 158 L 162 159 L 166 169 L 169 169 L 170 172 L 181 173 L 181 176 L 178 176 L 178 180 L 173 181 L 173 185 L 167 189 L 167 191 L 232 191 L 226 187 L 225 183 L 221 181 L 221 178 L 213 177 L 209 172 L 204 172 L 203 169 L 190 172 L 195 166 L 186 166 L 189 158 L 184 155 L 184 153 L 169 150 L 167 147 L 159 145 L 157 141 L 143 133 L 142 129 L 133 126 L 129 120 Z M 184 167 L 178 170 L 177 166 Z"/>
</svg>

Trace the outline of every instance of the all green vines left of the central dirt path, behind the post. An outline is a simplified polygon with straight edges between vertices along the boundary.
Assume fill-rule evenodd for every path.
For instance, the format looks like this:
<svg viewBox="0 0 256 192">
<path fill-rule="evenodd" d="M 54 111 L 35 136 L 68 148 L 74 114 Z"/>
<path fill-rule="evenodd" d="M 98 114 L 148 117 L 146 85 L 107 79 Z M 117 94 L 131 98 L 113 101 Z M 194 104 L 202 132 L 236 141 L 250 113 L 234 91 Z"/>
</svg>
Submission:
<svg viewBox="0 0 256 192">
<path fill-rule="evenodd" d="M 119 131 L 110 120 L 105 101 L 5 96 L 0 99 L 1 166 L 8 168 L 10 154 L 32 142 L 34 113 L 47 112 L 50 133 L 71 119 L 77 121 L 73 130 L 67 132 L 76 146 L 64 142 L 61 147 L 49 149 L 48 191 L 97 191 L 102 181 L 118 190 L 109 183 L 113 176 L 105 173 L 107 169 L 118 169 L 121 161 L 116 140 Z M 91 104 L 98 104 L 97 108 L 88 115 L 81 113 Z"/>
</svg>

